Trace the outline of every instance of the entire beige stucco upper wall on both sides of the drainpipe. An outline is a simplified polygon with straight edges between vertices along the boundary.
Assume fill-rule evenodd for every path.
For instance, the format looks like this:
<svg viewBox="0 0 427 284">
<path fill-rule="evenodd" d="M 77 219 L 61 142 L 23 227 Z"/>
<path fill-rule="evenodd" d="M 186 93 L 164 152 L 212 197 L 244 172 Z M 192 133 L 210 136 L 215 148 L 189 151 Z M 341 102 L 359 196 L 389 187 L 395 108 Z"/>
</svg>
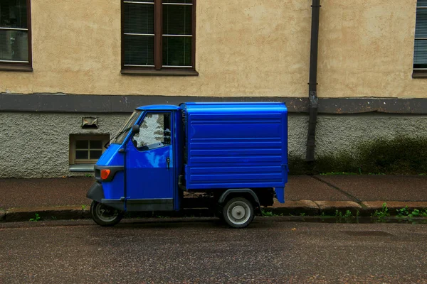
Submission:
<svg viewBox="0 0 427 284">
<path fill-rule="evenodd" d="M 33 0 L 33 72 L 0 92 L 306 97 L 311 0 L 199 0 L 198 77 L 120 74 L 120 0 Z M 411 78 L 416 0 L 322 0 L 320 97 L 427 97 Z"/>
</svg>

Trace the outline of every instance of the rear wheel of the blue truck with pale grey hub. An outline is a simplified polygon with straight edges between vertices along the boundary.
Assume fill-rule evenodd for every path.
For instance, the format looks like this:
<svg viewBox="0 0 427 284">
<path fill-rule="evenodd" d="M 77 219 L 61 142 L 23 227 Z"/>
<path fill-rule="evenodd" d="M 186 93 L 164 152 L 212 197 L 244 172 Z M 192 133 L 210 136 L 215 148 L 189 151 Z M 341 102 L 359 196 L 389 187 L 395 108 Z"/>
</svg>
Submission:
<svg viewBox="0 0 427 284">
<path fill-rule="evenodd" d="M 228 200 L 222 213 L 224 221 L 233 228 L 245 228 L 255 217 L 252 202 L 243 197 Z"/>
</svg>

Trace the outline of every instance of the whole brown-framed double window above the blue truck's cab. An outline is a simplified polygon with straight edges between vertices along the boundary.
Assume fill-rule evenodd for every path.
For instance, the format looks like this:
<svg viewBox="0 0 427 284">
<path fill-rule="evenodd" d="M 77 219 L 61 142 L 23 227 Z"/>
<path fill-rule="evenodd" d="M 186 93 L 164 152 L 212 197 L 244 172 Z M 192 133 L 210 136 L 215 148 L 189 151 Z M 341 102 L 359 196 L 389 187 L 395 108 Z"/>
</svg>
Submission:
<svg viewBox="0 0 427 284">
<path fill-rule="evenodd" d="M 122 0 L 122 73 L 198 75 L 196 0 Z"/>
</svg>

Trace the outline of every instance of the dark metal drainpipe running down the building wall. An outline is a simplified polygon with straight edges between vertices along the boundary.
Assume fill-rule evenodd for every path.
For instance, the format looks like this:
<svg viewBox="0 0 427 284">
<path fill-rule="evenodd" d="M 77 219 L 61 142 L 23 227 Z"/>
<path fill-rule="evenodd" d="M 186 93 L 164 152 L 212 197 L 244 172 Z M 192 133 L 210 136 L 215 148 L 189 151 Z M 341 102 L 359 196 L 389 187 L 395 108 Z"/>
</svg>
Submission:
<svg viewBox="0 0 427 284">
<path fill-rule="evenodd" d="M 315 160 L 315 135 L 317 124 L 317 46 L 319 45 L 319 15 L 320 0 L 312 2 L 312 30 L 310 42 L 310 80 L 308 83 L 309 113 L 308 134 L 307 134 L 307 155 L 305 160 L 312 162 Z"/>
</svg>

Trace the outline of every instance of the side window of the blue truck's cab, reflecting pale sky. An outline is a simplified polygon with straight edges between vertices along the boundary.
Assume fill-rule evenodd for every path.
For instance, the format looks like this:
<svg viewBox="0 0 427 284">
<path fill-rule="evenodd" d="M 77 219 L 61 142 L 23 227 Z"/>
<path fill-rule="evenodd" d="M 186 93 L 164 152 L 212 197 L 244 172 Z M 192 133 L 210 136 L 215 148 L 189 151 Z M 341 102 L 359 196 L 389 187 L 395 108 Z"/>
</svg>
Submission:
<svg viewBox="0 0 427 284">
<path fill-rule="evenodd" d="M 171 145 L 170 114 L 147 114 L 132 142 L 139 151 Z"/>
</svg>

